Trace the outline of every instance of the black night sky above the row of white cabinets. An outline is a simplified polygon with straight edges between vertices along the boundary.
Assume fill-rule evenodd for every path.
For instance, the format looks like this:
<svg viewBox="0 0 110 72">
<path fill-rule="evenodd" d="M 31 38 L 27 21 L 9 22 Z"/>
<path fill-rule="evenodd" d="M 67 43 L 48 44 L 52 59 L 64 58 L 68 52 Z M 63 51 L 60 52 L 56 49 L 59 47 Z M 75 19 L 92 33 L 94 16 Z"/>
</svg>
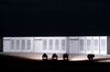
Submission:
<svg viewBox="0 0 110 72">
<path fill-rule="evenodd" d="M 0 36 L 110 35 L 109 0 L 0 0 Z"/>
</svg>

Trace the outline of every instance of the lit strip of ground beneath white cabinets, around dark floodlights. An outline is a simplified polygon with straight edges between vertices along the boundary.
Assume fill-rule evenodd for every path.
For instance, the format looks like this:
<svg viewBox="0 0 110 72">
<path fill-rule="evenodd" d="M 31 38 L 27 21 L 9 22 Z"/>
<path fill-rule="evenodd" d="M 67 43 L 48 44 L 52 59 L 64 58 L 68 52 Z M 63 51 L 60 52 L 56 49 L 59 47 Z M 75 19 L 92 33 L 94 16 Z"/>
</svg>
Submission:
<svg viewBox="0 0 110 72">
<path fill-rule="evenodd" d="M 2 55 L 15 56 L 21 58 L 28 58 L 33 60 L 42 60 L 42 53 L 33 52 L 0 52 Z M 52 59 L 52 53 L 47 53 L 48 60 Z M 58 53 L 58 60 L 63 60 L 63 53 Z M 69 61 L 85 61 L 88 60 L 87 55 L 69 55 Z M 94 58 L 96 62 L 110 62 L 110 55 L 96 55 Z"/>
</svg>

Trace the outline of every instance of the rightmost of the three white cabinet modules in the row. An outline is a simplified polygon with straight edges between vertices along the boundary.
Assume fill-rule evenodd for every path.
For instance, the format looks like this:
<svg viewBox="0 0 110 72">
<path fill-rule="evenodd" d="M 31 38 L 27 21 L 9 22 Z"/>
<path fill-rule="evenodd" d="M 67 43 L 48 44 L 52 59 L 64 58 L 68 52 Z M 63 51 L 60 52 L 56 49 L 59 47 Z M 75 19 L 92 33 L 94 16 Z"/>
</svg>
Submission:
<svg viewBox="0 0 110 72">
<path fill-rule="evenodd" d="M 74 47 L 74 48 L 73 48 Z M 107 55 L 107 36 L 79 37 L 69 40 L 69 53 Z"/>
</svg>

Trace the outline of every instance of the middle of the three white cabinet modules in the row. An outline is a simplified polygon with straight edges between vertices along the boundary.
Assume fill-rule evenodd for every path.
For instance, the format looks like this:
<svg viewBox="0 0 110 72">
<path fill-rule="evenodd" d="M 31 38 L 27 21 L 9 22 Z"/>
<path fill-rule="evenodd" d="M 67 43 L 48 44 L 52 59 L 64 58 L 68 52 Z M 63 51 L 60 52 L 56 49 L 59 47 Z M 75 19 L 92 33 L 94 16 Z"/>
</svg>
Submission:
<svg viewBox="0 0 110 72">
<path fill-rule="evenodd" d="M 66 37 L 34 37 L 35 52 L 65 53 Z"/>
</svg>

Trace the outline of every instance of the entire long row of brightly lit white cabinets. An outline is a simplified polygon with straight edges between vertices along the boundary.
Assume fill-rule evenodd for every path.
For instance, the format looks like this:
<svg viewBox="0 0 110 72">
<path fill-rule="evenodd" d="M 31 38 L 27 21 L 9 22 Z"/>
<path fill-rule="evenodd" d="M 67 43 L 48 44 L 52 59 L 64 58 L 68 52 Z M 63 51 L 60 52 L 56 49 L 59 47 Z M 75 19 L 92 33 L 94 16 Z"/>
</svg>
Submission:
<svg viewBox="0 0 110 72">
<path fill-rule="evenodd" d="M 3 38 L 3 52 L 107 55 L 107 37 L 8 37 Z"/>
</svg>

